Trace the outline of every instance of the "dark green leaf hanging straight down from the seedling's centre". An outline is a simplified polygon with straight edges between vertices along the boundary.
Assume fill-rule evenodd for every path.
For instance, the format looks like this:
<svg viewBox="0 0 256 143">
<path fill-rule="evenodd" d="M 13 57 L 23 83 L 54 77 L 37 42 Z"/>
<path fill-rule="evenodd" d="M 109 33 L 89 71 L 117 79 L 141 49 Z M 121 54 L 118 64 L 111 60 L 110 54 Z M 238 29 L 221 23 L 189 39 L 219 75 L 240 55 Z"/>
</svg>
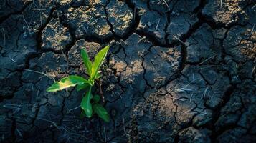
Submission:
<svg viewBox="0 0 256 143">
<path fill-rule="evenodd" d="M 93 109 L 92 104 L 90 103 L 90 99 L 92 99 L 92 87 L 88 89 L 85 94 L 85 97 L 82 97 L 81 108 L 85 111 L 86 117 L 92 117 Z"/>
</svg>

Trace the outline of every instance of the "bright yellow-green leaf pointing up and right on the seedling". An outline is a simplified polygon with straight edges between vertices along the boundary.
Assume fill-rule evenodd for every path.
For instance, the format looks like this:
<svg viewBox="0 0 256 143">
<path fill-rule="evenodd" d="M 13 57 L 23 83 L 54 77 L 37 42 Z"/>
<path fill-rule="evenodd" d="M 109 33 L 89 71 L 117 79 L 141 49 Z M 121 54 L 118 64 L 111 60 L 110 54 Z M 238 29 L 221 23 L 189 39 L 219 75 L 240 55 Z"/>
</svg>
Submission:
<svg viewBox="0 0 256 143">
<path fill-rule="evenodd" d="M 98 74 L 98 70 L 100 69 L 100 66 L 103 64 L 103 61 L 108 54 L 109 47 L 109 45 L 105 46 L 105 48 L 100 50 L 99 53 L 95 56 L 92 66 L 92 74 L 90 76 L 91 79 L 95 79 L 96 75 Z"/>
</svg>

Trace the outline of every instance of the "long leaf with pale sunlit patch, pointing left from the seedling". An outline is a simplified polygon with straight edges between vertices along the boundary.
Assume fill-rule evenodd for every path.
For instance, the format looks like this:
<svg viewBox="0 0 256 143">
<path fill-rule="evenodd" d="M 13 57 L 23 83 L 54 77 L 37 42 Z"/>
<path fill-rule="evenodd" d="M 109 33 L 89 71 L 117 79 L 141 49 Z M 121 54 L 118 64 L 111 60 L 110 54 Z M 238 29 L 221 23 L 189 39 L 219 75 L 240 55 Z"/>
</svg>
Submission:
<svg viewBox="0 0 256 143">
<path fill-rule="evenodd" d="M 51 87 L 47 89 L 47 92 L 57 92 L 68 87 L 74 87 L 77 84 L 89 83 L 86 79 L 79 76 L 68 76 L 60 80 L 60 82 L 54 82 Z"/>
</svg>

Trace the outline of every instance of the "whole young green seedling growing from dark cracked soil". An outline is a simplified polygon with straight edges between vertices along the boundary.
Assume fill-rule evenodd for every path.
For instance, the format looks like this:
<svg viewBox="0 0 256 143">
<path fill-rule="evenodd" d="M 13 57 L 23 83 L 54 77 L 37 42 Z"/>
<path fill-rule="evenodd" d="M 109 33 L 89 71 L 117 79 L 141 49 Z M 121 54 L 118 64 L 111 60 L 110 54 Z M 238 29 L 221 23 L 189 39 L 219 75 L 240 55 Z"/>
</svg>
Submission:
<svg viewBox="0 0 256 143">
<path fill-rule="evenodd" d="M 110 121 L 107 110 L 101 105 L 100 96 L 98 94 L 92 94 L 92 87 L 95 84 L 95 80 L 100 78 L 100 66 L 103 64 L 105 57 L 108 54 L 108 49 L 110 46 L 105 46 L 104 49 L 100 50 L 94 58 L 94 62 L 90 61 L 87 52 L 82 49 L 82 61 L 85 64 L 87 74 L 90 76 L 89 79 L 84 79 L 83 77 L 70 75 L 60 80 L 60 82 L 54 82 L 51 87 L 47 89 L 47 92 L 57 92 L 62 89 L 67 89 L 69 87 L 76 87 L 77 91 L 86 89 L 85 96 L 82 97 L 81 108 L 82 116 L 92 117 L 92 115 L 98 114 L 98 116 L 105 122 Z M 92 100 L 93 99 L 93 100 Z"/>
</svg>

